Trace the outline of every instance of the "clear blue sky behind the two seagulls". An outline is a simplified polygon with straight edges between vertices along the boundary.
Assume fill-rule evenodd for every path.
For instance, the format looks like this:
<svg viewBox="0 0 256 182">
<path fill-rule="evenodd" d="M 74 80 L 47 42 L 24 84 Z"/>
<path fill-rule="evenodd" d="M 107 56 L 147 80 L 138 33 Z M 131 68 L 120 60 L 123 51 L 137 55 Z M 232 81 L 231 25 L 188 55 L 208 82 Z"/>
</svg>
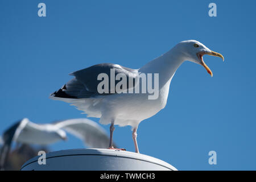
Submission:
<svg viewBox="0 0 256 182">
<path fill-rule="evenodd" d="M 38 16 L 38 3 L 47 16 Z M 217 17 L 208 16 L 215 2 Z M 245 3 L 246 2 L 246 3 Z M 217 57 L 213 71 L 185 62 L 166 107 L 138 128 L 142 154 L 181 170 L 256 169 L 255 1 L 7 1 L 0 2 L 0 133 L 18 119 L 38 123 L 85 115 L 49 94 L 68 73 L 98 63 L 140 68 L 182 40 L 196 39 Z M 91 118 L 98 121 L 98 118 Z M 109 132 L 109 126 L 104 126 Z M 114 140 L 134 151 L 130 127 Z M 82 148 L 68 142 L 51 150 Z M 217 152 L 217 165 L 208 152 Z"/>
</svg>

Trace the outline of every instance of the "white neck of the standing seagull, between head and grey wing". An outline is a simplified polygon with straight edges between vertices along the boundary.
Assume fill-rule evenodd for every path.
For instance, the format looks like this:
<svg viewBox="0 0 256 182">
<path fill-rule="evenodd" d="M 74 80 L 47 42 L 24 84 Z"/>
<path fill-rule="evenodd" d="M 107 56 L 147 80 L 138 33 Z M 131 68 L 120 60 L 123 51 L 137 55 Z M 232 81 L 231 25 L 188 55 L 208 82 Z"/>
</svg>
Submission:
<svg viewBox="0 0 256 182">
<path fill-rule="evenodd" d="M 183 54 L 176 48 L 150 61 L 139 69 L 141 73 L 159 73 L 159 88 L 174 76 L 177 68 L 185 61 Z"/>
</svg>

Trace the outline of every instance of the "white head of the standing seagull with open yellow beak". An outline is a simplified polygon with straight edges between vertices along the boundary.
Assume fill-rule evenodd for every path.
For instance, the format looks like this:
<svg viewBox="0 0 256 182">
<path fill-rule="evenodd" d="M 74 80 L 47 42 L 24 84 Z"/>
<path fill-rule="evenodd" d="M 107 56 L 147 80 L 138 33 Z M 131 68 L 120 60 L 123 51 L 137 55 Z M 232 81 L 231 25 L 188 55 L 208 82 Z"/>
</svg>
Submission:
<svg viewBox="0 0 256 182">
<path fill-rule="evenodd" d="M 224 57 L 220 53 L 211 51 L 208 47 L 204 46 L 204 44 L 196 40 L 185 40 L 183 42 L 180 42 L 175 46 L 175 49 L 179 50 L 179 53 L 181 54 L 181 56 L 183 56 L 184 60 L 203 65 L 203 67 L 207 70 L 210 76 L 213 76 L 213 74 L 208 66 L 204 63 L 203 55 L 221 57 L 224 61 Z"/>
</svg>

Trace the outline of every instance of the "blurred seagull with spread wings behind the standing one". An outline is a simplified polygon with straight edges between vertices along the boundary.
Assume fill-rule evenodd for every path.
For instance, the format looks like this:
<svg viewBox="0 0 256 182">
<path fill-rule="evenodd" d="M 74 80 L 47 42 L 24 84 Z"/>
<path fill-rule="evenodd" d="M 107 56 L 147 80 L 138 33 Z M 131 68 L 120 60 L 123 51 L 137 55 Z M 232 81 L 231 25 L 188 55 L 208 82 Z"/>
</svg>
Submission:
<svg viewBox="0 0 256 182">
<path fill-rule="evenodd" d="M 56 123 L 37 124 L 28 118 L 21 119 L 3 134 L 3 146 L 0 153 L 0 169 L 3 168 L 9 154 L 11 143 L 48 145 L 67 140 L 66 132 L 80 138 L 86 146 L 92 148 L 108 147 L 109 137 L 96 122 L 86 119 L 67 119 Z"/>
</svg>

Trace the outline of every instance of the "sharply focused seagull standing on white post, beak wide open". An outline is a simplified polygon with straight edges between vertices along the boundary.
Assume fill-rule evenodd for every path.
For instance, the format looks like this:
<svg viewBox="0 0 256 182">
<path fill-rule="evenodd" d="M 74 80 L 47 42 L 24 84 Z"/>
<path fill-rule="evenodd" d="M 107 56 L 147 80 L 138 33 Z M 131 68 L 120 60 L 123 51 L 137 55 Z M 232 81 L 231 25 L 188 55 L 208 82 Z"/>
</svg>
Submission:
<svg viewBox="0 0 256 182">
<path fill-rule="evenodd" d="M 84 111 L 87 117 L 100 118 L 101 124 L 110 124 L 110 149 L 114 149 L 112 142 L 114 125 L 131 126 L 135 152 L 139 153 L 137 143 L 138 125 L 141 121 L 152 117 L 166 106 L 170 83 L 177 68 L 184 61 L 191 61 L 203 65 L 210 76 L 213 76 L 212 71 L 203 60 L 203 55 L 221 57 L 224 61 L 224 57 L 220 53 L 211 51 L 204 44 L 196 40 L 186 40 L 178 43 L 170 51 L 139 69 L 103 63 L 70 73 L 69 75 L 74 77 L 59 90 L 52 93 L 50 98 L 76 106 L 77 109 Z M 102 74 L 108 77 L 114 75 L 115 78 L 122 74 L 125 75 L 126 81 L 132 80 L 133 84 L 127 84 L 128 86 L 122 90 L 125 92 L 117 92 L 117 90 L 113 90 L 113 84 L 117 86 L 117 81 L 111 82 L 110 80 L 108 84 L 112 86 L 106 86 L 105 88 L 104 85 L 105 91 L 102 93 L 99 90 L 99 85 L 102 83 Z M 155 84 L 158 82 L 159 86 L 159 95 L 156 99 L 149 99 L 152 94 L 148 90 L 146 93 L 130 92 L 142 88 L 144 83 L 138 80 L 145 74 L 158 74 L 159 76 L 158 80 L 155 81 Z M 121 79 L 119 78 L 119 80 Z"/>
</svg>

